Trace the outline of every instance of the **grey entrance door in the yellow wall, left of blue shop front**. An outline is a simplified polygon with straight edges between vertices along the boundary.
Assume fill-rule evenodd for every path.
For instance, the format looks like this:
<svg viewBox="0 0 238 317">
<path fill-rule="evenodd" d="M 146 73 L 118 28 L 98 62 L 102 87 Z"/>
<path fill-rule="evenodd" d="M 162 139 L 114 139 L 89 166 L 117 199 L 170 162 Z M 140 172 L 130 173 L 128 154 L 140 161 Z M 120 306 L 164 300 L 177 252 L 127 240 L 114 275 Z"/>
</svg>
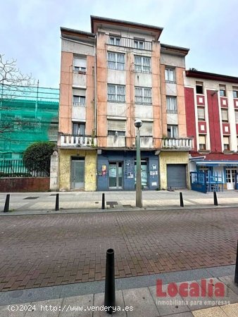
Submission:
<svg viewBox="0 0 238 317">
<path fill-rule="evenodd" d="M 84 157 L 73 156 L 71 158 L 70 187 L 72 189 L 84 188 Z"/>
</svg>

